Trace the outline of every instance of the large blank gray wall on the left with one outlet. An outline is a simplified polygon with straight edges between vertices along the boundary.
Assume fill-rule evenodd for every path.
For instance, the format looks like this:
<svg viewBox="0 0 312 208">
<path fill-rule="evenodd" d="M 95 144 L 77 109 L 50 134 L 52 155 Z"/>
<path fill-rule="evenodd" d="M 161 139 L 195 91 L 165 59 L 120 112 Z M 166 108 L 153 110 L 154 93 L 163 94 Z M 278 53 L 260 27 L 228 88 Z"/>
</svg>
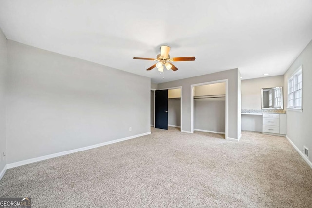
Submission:
<svg viewBox="0 0 312 208">
<path fill-rule="evenodd" d="M 10 40 L 7 60 L 8 163 L 150 132 L 150 78 Z"/>
</svg>

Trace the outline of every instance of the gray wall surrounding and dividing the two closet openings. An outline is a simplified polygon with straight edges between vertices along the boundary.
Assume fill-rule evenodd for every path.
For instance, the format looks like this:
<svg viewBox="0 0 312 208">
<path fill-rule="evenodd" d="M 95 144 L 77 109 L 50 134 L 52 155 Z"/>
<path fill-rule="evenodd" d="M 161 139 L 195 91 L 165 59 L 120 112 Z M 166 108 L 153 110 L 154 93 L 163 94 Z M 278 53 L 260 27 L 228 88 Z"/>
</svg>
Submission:
<svg viewBox="0 0 312 208">
<path fill-rule="evenodd" d="M 192 69 L 190 69 L 192 70 Z M 228 79 L 228 137 L 237 139 L 240 135 L 240 73 L 238 69 L 231 69 L 208 75 L 195 76 L 171 82 L 158 84 L 159 89 L 182 86 L 182 130 L 191 131 L 191 85 L 198 83 L 211 82 L 216 80 Z"/>
</svg>

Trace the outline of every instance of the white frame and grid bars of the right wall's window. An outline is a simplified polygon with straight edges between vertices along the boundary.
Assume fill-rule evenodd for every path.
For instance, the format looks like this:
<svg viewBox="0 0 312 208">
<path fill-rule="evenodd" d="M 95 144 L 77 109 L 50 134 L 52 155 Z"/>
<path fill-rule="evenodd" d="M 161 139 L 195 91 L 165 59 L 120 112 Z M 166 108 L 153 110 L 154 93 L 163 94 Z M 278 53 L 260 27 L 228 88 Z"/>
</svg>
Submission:
<svg viewBox="0 0 312 208">
<path fill-rule="evenodd" d="M 298 82 L 298 75 L 301 75 L 301 82 Z M 303 110 L 302 107 L 302 100 L 303 100 L 303 76 L 302 76 L 302 65 L 288 78 L 287 82 L 287 110 L 292 111 L 301 111 Z M 301 97 L 296 97 L 296 93 L 300 92 Z M 290 99 L 292 97 L 292 99 Z M 296 99 L 301 98 L 301 106 L 296 106 Z M 290 105 L 291 104 L 291 105 Z"/>
</svg>

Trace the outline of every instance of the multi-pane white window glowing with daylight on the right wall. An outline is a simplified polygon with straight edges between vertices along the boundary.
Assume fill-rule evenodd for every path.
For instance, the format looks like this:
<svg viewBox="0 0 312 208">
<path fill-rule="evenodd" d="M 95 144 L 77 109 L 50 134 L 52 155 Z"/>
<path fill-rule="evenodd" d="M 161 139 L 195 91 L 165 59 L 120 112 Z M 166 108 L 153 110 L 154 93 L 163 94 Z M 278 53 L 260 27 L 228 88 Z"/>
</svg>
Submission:
<svg viewBox="0 0 312 208">
<path fill-rule="evenodd" d="M 302 109 L 302 67 L 288 79 L 288 108 Z"/>
</svg>

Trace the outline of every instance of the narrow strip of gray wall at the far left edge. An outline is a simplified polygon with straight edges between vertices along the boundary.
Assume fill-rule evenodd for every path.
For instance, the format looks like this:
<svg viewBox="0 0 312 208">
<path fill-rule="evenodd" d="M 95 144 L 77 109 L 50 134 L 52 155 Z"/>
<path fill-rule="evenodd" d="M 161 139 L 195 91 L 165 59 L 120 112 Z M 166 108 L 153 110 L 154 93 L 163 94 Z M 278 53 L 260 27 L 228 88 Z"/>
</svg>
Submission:
<svg viewBox="0 0 312 208">
<path fill-rule="evenodd" d="M 6 135 L 5 135 L 5 86 L 7 73 L 7 40 L 0 30 L 0 172 L 6 165 L 6 157 L 3 152 L 6 151 Z"/>
</svg>

